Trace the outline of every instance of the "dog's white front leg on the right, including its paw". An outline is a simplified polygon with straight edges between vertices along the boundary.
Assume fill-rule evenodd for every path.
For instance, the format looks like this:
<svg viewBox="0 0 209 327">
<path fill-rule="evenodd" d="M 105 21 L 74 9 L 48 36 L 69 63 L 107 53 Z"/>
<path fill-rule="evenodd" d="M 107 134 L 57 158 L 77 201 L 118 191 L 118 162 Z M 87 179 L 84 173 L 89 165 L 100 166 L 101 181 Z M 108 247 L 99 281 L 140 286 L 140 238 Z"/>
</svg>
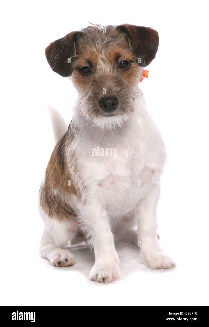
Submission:
<svg viewBox="0 0 209 327">
<path fill-rule="evenodd" d="M 175 263 L 165 255 L 160 248 L 157 239 L 157 202 L 159 198 L 159 187 L 152 186 L 150 192 L 144 196 L 136 208 L 137 232 L 141 255 L 150 268 L 172 268 Z"/>
</svg>

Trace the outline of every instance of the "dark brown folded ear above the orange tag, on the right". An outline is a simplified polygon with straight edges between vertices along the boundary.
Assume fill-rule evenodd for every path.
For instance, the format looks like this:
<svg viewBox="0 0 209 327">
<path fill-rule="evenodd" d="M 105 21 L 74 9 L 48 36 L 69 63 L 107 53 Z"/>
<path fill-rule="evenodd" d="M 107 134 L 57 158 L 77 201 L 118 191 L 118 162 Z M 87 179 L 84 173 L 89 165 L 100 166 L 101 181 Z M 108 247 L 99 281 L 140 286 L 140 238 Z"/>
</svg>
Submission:
<svg viewBox="0 0 209 327">
<path fill-rule="evenodd" d="M 126 35 L 129 46 L 136 56 L 139 66 L 145 67 L 155 58 L 159 44 L 159 36 L 151 27 L 135 25 L 119 25 L 117 30 Z M 138 60 L 138 58 L 141 58 Z"/>
</svg>

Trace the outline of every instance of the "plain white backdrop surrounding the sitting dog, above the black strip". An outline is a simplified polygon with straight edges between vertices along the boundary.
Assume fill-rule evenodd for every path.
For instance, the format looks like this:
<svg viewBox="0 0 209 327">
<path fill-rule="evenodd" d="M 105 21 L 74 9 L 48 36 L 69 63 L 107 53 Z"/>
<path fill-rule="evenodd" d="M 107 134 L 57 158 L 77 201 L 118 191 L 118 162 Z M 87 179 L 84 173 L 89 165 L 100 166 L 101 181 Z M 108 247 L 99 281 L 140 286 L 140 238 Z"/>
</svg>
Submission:
<svg viewBox="0 0 209 327">
<path fill-rule="evenodd" d="M 206 1 L 10 1 L 1 12 L 1 301 L 3 305 L 208 305 L 208 27 Z M 47 104 L 69 123 L 76 91 L 45 47 L 72 30 L 129 23 L 159 33 L 139 84 L 164 138 L 158 205 L 172 270 L 138 267 L 112 284 L 39 257 L 37 193 L 54 143 Z M 93 254 L 92 254 L 93 255 Z M 75 255 L 76 256 L 76 255 Z M 130 261 L 131 262 L 131 261 Z M 88 256 L 82 262 L 89 266 Z"/>
</svg>

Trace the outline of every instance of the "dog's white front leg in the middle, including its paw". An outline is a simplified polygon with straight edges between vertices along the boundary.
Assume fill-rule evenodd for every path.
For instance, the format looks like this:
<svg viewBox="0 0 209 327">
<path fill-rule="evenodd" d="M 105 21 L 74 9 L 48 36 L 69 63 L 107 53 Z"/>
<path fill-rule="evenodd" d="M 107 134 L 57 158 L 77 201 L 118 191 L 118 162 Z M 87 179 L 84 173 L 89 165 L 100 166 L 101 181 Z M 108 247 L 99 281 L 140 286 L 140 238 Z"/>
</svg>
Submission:
<svg viewBox="0 0 209 327">
<path fill-rule="evenodd" d="M 95 264 L 89 278 L 102 283 L 112 282 L 121 276 L 121 272 L 109 218 L 98 205 L 83 207 L 81 218 L 95 253 Z"/>
</svg>

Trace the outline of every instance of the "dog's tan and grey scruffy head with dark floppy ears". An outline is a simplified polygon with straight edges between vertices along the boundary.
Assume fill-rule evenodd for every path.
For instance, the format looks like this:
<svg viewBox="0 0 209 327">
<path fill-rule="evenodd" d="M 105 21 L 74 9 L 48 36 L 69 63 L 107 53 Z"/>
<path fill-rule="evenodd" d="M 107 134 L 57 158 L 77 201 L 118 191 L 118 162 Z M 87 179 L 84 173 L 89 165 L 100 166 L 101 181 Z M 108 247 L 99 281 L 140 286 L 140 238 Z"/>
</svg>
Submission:
<svg viewBox="0 0 209 327">
<path fill-rule="evenodd" d="M 72 76 L 80 113 L 103 126 L 134 111 L 142 67 L 155 58 L 158 42 L 150 27 L 89 26 L 52 42 L 45 53 L 54 72 Z"/>
</svg>

